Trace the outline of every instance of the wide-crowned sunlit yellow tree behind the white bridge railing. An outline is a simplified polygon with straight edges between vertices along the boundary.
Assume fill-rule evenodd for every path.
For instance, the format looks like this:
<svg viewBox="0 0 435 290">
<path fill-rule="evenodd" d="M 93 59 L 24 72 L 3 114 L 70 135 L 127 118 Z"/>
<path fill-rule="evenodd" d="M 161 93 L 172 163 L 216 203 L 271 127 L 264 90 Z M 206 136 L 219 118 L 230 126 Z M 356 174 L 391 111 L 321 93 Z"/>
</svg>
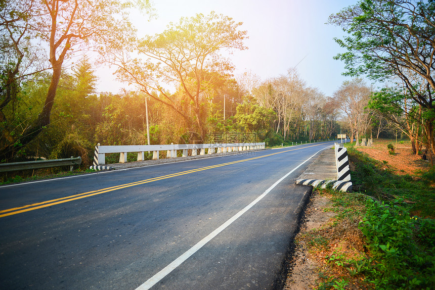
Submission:
<svg viewBox="0 0 435 290">
<path fill-rule="evenodd" d="M 223 50 L 244 50 L 246 31 L 240 31 L 241 22 L 211 12 L 204 16 L 181 18 L 178 24 L 155 36 L 139 40 L 133 47 L 141 58 L 114 55 L 112 62 L 119 68 L 118 76 L 138 85 L 150 98 L 177 112 L 187 124 L 195 123 L 202 139 L 206 135 L 205 103 L 210 85 L 222 75 L 232 71 Z M 191 109 L 183 111 L 168 89 L 179 88 Z"/>
</svg>

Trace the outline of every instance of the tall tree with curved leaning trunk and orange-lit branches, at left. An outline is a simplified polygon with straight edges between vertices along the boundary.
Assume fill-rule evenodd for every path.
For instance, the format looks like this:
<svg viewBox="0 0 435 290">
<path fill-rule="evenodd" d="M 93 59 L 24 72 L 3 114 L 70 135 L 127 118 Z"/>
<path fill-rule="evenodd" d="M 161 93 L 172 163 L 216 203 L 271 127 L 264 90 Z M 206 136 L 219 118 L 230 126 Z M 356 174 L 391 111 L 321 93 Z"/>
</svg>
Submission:
<svg viewBox="0 0 435 290">
<path fill-rule="evenodd" d="M 81 50 L 95 51 L 104 55 L 119 47 L 120 43 L 126 42 L 126 38 L 130 37 L 128 35 L 132 32 L 131 35 L 134 35 L 135 32 L 126 18 L 127 9 L 133 7 L 133 3 L 128 1 L 35 0 L 31 2 L 32 9 L 27 9 L 27 6 L 20 7 L 19 1 L 8 1 L 6 4 L 2 2 L 2 9 L 9 5 L 16 8 L 14 13 L 9 15 L 11 25 L 18 32 L 9 33 L 10 39 L 13 39 L 10 42 L 19 47 L 20 41 L 36 36 L 48 47 L 52 76 L 45 104 L 37 120 L 22 135 L 17 136 L 12 142 L 5 143 L 5 146 L 0 149 L 0 160 L 13 157 L 17 150 L 32 141 L 50 124 L 50 114 L 66 60 Z M 142 8 L 149 7 L 147 0 L 138 3 Z M 26 29 L 19 29 L 20 27 Z M 125 31 L 129 33 L 126 34 Z"/>
</svg>

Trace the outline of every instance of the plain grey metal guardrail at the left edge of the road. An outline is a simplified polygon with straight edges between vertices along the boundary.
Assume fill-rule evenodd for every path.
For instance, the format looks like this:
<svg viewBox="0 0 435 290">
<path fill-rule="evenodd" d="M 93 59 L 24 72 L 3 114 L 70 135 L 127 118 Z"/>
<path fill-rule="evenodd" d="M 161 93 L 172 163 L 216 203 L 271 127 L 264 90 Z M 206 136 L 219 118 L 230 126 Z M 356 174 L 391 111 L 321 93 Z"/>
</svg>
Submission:
<svg viewBox="0 0 435 290">
<path fill-rule="evenodd" d="M 31 170 L 40 168 L 50 168 L 59 166 L 71 166 L 80 165 L 81 157 L 65 158 L 65 159 L 52 159 L 52 160 L 38 160 L 38 161 L 25 161 L 25 162 L 13 162 L 0 164 L 0 172 L 19 171 L 19 170 Z"/>
</svg>

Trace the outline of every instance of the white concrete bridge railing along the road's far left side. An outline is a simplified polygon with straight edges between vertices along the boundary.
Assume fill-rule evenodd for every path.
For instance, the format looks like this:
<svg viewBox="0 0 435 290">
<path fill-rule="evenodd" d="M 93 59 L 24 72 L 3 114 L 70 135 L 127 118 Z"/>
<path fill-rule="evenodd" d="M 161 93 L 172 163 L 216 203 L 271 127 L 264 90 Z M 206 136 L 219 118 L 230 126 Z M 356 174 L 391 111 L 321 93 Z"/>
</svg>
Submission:
<svg viewBox="0 0 435 290">
<path fill-rule="evenodd" d="M 183 157 L 188 156 L 188 150 L 191 150 L 191 156 L 206 155 L 213 153 L 225 153 L 233 151 L 246 151 L 255 149 L 264 149 L 265 142 L 262 143 L 214 143 L 214 144 L 165 144 L 165 145 L 124 145 L 124 146 L 100 146 L 95 147 L 94 165 L 105 165 L 105 155 L 119 153 L 119 163 L 127 162 L 128 152 L 137 152 L 138 161 L 144 161 L 144 152 L 153 152 L 153 159 L 159 159 L 159 152 L 166 151 L 166 158 L 176 158 L 177 150 L 183 150 Z M 207 153 L 205 150 L 207 149 Z M 217 152 L 215 152 L 217 150 Z"/>
</svg>

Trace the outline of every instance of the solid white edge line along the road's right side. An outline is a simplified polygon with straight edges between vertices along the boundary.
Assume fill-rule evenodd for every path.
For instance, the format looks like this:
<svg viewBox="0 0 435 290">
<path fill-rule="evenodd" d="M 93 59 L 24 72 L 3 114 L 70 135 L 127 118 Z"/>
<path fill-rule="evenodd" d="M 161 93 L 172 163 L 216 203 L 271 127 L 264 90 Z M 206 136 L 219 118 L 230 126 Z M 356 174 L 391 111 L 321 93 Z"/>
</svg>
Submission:
<svg viewBox="0 0 435 290">
<path fill-rule="evenodd" d="M 329 148 L 326 147 L 326 148 Z M 325 150 L 326 148 L 322 149 Z M 308 158 L 306 161 L 300 163 L 298 166 L 293 168 L 289 173 L 281 177 L 278 181 L 276 181 L 274 184 L 272 184 L 271 187 L 269 187 L 265 192 L 263 192 L 262 195 L 257 197 L 253 202 L 251 202 L 249 205 L 247 205 L 244 209 L 239 211 L 237 214 L 235 214 L 233 217 L 231 217 L 229 220 L 227 220 L 225 223 L 223 223 L 220 227 L 213 230 L 210 234 L 208 234 L 206 237 L 201 239 L 195 246 L 187 250 L 184 254 L 182 254 L 180 257 L 175 259 L 172 263 L 164 267 L 160 272 L 149 278 L 145 283 L 140 285 L 136 288 L 136 290 L 147 290 L 154 286 L 156 283 L 158 283 L 161 279 L 163 279 L 166 275 L 168 275 L 170 272 L 175 270 L 178 266 L 180 266 L 184 261 L 189 259 L 190 256 L 195 254 L 199 249 L 201 249 L 205 244 L 207 244 L 212 238 L 214 238 L 216 235 L 218 235 L 221 231 L 223 231 L 225 228 L 227 228 L 230 224 L 232 224 L 235 220 L 237 220 L 242 214 L 247 212 L 251 207 L 253 207 L 256 203 L 258 203 L 260 200 L 262 200 L 269 192 L 275 188 L 282 180 L 284 180 L 287 176 L 289 176 L 291 173 L 293 173 L 297 168 L 299 168 L 302 164 L 309 161 L 311 158 L 316 156 L 320 151 L 316 152 L 313 156 Z"/>
</svg>

